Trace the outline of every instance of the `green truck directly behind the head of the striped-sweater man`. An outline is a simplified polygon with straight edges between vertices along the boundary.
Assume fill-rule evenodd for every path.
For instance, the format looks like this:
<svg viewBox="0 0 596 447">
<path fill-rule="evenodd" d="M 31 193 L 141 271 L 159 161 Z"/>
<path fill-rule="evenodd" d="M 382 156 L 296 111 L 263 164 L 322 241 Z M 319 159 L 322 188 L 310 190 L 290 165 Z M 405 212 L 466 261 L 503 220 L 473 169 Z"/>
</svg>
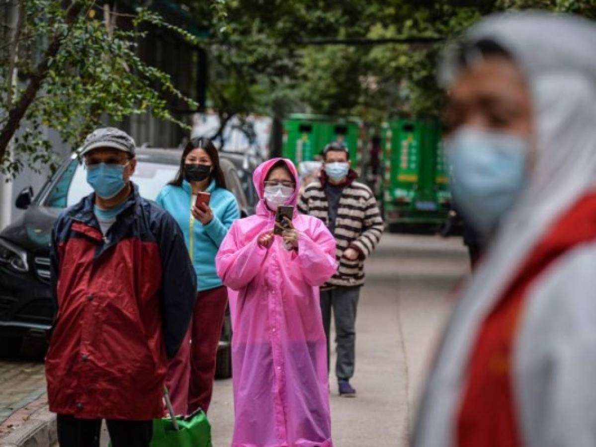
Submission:
<svg viewBox="0 0 596 447">
<path fill-rule="evenodd" d="M 359 171 L 364 148 L 364 125 L 358 118 L 294 113 L 284 120 L 281 154 L 298 165 L 315 160 L 328 143 L 339 141 L 350 152 L 352 167 Z"/>
</svg>

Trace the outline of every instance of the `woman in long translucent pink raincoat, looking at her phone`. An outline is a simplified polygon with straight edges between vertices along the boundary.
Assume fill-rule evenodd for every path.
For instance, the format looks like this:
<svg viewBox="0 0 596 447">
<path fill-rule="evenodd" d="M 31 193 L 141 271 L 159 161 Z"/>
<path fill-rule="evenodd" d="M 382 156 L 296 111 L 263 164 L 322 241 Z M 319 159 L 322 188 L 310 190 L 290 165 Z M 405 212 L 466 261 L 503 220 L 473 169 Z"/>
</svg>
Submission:
<svg viewBox="0 0 596 447">
<path fill-rule="evenodd" d="M 331 447 L 318 287 L 336 271 L 335 241 L 296 211 L 290 229 L 272 234 L 277 206 L 296 205 L 290 160 L 264 162 L 253 182 L 257 214 L 232 224 L 216 257 L 234 333 L 232 447 Z"/>
</svg>

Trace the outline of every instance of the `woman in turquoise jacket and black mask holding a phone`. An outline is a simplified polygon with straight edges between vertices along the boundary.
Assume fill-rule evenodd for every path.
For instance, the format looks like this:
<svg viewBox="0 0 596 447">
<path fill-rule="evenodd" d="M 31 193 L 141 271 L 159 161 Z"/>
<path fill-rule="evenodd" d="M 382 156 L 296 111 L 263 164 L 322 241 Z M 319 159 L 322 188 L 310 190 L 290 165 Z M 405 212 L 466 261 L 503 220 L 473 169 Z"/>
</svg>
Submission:
<svg viewBox="0 0 596 447">
<path fill-rule="evenodd" d="M 209 205 L 195 206 L 199 192 L 211 194 Z M 157 204 L 175 218 L 184 233 L 198 289 L 187 340 L 169 364 L 166 384 L 176 414 L 191 414 L 199 407 L 207 411 L 228 299 L 215 272 L 215 255 L 232 222 L 240 217 L 238 203 L 226 189 L 218 151 L 209 139 L 188 142 L 178 174 L 159 192 Z"/>
</svg>

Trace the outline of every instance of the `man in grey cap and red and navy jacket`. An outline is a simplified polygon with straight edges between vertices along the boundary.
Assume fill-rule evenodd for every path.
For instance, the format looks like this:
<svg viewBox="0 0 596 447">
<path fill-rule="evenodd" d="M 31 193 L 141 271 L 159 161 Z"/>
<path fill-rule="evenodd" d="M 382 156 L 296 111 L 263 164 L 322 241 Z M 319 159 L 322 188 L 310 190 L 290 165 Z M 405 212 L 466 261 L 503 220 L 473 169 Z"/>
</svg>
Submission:
<svg viewBox="0 0 596 447">
<path fill-rule="evenodd" d="M 190 323 L 196 278 L 173 218 L 130 181 L 135 142 L 98 129 L 80 151 L 94 193 L 54 224 L 57 315 L 46 355 L 61 447 L 149 447 L 163 380 Z"/>
</svg>

